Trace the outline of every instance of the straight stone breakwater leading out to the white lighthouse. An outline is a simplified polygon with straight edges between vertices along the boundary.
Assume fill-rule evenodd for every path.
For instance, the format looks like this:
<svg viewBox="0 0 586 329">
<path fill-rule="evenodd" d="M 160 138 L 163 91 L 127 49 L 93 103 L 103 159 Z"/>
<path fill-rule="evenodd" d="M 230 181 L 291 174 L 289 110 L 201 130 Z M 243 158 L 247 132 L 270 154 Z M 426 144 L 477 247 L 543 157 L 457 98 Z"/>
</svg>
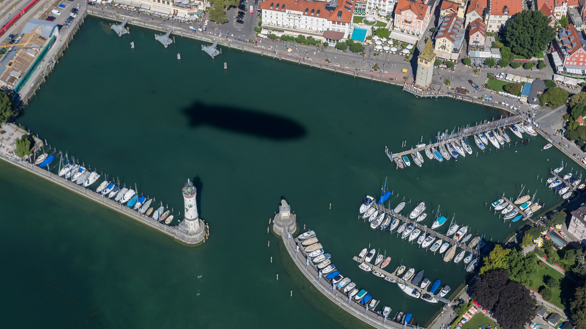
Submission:
<svg viewBox="0 0 586 329">
<path fill-rule="evenodd" d="M 20 167 L 21 169 L 24 169 L 30 173 L 36 174 L 37 176 L 42 177 L 46 180 L 52 181 L 53 183 L 58 184 L 59 186 L 62 186 L 67 190 L 73 191 L 77 194 L 80 194 L 81 196 L 89 198 L 90 200 L 103 204 L 106 207 L 111 208 L 112 210 L 118 211 L 118 213 L 126 215 L 132 218 L 133 220 L 137 220 L 142 224 L 146 224 L 149 227 L 161 231 L 166 235 L 169 235 L 170 237 L 178 239 L 179 241 L 185 242 L 186 244 L 192 245 L 198 244 L 199 242 L 205 242 L 206 238 L 209 237 L 209 226 L 203 221 L 200 222 L 200 225 L 205 225 L 205 234 L 203 235 L 203 237 L 201 234 L 188 234 L 186 231 L 182 229 L 162 224 L 152 218 L 149 218 L 145 215 L 141 215 L 137 211 L 131 210 L 131 208 L 125 205 L 119 204 L 101 194 L 86 189 L 86 187 L 84 186 L 80 186 L 67 179 L 64 179 L 63 177 L 59 177 L 57 176 L 57 174 L 51 173 L 46 169 L 42 169 L 38 166 L 34 166 L 32 164 L 23 162 L 17 157 L 9 156 L 6 153 L 0 153 L 0 159 L 5 160 L 6 162 L 11 163 L 12 165 L 15 165 L 17 167 Z"/>
</svg>

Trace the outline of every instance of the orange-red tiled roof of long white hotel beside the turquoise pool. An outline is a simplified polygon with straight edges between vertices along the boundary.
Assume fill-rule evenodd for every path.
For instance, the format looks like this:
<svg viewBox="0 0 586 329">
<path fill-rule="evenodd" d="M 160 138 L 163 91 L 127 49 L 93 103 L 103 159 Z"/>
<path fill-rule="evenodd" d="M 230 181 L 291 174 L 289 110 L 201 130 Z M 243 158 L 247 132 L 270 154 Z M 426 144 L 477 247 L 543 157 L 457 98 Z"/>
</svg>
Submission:
<svg viewBox="0 0 586 329">
<path fill-rule="evenodd" d="M 350 23 L 352 21 L 352 13 L 354 11 L 354 2 L 347 0 L 338 0 L 336 9 L 332 12 L 325 8 L 325 2 L 305 1 L 305 0 L 270 0 L 263 1 L 260 3 L 261 9 L 269 11 L 298 11 L 304 15 L 311 16 L 311 12 L 315 13 L 317 17 L 319 11 L 320 18 L 327 18 L 328 20 L 335 20 L 336 22 Z M 272 9 L 271 9 L 272 7 Z M 350 8 L 348 10 L 347 8 Z M 338 18 L 338 14 L 341 12 L 341 18 Z"/>
</svg>

